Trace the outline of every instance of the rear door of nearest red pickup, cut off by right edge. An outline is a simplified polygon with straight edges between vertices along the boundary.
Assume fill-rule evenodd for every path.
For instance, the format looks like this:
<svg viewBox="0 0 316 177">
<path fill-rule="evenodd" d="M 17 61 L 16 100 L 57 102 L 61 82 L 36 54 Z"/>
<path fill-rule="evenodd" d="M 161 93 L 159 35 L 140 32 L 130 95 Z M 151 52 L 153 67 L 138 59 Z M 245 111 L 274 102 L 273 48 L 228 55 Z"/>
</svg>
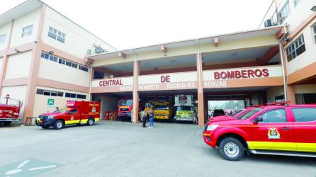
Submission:
<svg viewBox="0 0 316 177">
<path fill-rule="evenodd" d="M 316 152 L 316 108 L 292 108 L 299 152 Z"/>
</svg>

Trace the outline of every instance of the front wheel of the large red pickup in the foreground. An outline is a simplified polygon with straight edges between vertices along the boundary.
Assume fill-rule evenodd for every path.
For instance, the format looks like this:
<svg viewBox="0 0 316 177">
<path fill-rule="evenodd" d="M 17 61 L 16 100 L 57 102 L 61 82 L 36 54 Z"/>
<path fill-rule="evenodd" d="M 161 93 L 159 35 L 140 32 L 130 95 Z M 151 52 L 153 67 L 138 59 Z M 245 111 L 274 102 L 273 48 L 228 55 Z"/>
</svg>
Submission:
<svg viewBox="0 0 316 177">
<path fill-rule="evenodd" d="M 244 146 L 238 139 L 226 137 L 220 142 L 220 155 L 229 161 L 239 161 L 244 156 Z"/>
</svg>

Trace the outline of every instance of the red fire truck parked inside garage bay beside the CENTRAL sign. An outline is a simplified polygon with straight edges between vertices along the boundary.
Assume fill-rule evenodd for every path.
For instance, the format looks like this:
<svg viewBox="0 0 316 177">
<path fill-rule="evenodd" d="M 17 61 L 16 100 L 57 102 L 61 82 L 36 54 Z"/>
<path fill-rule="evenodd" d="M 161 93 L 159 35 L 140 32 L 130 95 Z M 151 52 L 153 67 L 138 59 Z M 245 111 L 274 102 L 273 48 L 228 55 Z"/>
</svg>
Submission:
<svg viewBox="0 0 316 177">
<path fill-rule="evenodd" d="M 131 120 L 132 99 L 122 98 L 118 101 L 118 120 Z"/>
</svg>

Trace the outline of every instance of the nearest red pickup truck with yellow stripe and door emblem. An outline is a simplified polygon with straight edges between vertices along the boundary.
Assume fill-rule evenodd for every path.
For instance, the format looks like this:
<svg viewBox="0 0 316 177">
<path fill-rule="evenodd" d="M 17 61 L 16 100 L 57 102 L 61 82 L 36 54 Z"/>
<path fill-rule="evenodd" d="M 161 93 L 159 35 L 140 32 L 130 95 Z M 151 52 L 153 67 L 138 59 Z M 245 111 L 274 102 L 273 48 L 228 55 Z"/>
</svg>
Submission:
<svg viewBox="0 0 316 177">
<path fill-rule="evenodd" d="M 316 105 L 254 108 L 235 120 L 208 122 L 203 139 L 231 161 L 242 159 L 244 152 L 316 157 Z"/>
</svg>

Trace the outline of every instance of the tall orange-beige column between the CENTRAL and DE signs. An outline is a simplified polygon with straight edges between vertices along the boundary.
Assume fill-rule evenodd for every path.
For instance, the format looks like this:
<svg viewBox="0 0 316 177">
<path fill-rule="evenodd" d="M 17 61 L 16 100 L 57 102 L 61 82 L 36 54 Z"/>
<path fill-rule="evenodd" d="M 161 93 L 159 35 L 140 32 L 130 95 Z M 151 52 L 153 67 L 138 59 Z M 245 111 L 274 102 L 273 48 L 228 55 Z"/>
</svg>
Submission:
<svg viewBox="0 0 316 177">
<path fill-rule="evenodd" d="M 133 69 L 133 89 L 132 89 L 132 122 L 138 122 L 138 108 L 139 108 L 139 98 L 140 93 L 138 93 L 138 76 L 140 75 L 140 62 L 134 62 Z"/>
</svg>

